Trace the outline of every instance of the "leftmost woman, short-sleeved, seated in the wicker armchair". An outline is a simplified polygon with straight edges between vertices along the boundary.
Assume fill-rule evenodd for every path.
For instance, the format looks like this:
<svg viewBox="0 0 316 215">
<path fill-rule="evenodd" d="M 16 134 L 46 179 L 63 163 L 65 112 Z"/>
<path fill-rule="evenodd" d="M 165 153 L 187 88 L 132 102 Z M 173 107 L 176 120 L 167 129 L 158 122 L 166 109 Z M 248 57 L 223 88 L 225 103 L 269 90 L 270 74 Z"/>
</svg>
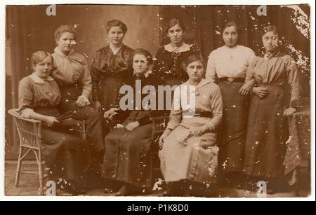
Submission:
<svg viewBox="0 0 316 215">
<path fill-rule="evenodd" d="M 68 134 L 58 127 L 60 116 L 56 106 L 60 102 L 60 90 L 56 81 L 49 76 L 53 57 L 38 51 L 31 57 L 34 73 L 19 82 L 18 102 L 24 118 L 41 120 L 43 157 L 46 167 L 52 172 L 51 179 L 67 181 L 72 194 L 81 193 L 77 183 L 82 178 L 86 141 Z M 57 126 L 52 126 L 52 125 Z M 64 185 L 65 186 L 65 185 Z"/>
</svg>

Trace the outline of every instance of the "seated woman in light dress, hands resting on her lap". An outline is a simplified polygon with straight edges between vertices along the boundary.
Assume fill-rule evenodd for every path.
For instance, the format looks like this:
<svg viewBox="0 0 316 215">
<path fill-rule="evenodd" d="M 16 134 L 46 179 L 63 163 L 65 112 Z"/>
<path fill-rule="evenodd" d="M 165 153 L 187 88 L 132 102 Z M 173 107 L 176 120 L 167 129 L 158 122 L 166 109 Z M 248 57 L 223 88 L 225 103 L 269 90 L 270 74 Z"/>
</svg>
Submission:
<svg viewBox="0 0 316 215">
<path fill-rule="evenodd" d="M 168 185 L 164 195 L 195 195 L 190 190 L 198 188 L 202 189 L 197 195 L 206 195 L 216 178 L 223 102 L 218 85 L 202 78 L 199 57 L 187 57 L 183 67 L 189 80 L 176 88 L 170 120 L 159 139 L 161 169 Z M 195 105 L 187 106 L 187 98 L 195 99 Z"/>
</svg>

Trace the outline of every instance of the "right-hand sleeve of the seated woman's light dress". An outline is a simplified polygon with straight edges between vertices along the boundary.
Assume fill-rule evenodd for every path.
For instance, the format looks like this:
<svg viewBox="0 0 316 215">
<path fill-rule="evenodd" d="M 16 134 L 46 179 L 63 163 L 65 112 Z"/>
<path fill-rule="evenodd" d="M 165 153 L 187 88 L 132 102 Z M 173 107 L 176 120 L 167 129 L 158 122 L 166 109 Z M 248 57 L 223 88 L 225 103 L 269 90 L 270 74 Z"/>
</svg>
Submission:
<svg viewBox="0 0 316 215">
<path fill-rule="evenodd" d="M 220 88 L 216 84 L 213 84 L 212 88 L 213 90 L 210 97 L 210 106 L 213 112 L 213 118 L 211 118 L 211 120 L 206 123 L 206 126 L 209 127 L 210 132 L 216 130 L 219 127 L 223 117 L 223 100 L 222 95 L 220 94 Z"/>
</svg>

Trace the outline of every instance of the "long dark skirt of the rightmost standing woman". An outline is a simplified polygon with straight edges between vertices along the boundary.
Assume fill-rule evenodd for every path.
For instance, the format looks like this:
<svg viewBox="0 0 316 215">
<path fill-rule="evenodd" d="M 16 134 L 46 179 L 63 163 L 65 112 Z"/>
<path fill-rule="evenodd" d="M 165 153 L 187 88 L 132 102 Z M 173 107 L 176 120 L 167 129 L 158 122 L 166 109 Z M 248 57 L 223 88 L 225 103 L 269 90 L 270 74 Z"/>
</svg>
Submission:
<svg viewBox="0 0 316 215">
<path fill-rule="evenodd" d="M 283 116 L 284 88 L 266 85 L 268 97 L 254 95 L 249 109 L 244 170 L 252 176 L 284 175 L 284 155 L 288 139 L 287 118 Z"/>
</svg>

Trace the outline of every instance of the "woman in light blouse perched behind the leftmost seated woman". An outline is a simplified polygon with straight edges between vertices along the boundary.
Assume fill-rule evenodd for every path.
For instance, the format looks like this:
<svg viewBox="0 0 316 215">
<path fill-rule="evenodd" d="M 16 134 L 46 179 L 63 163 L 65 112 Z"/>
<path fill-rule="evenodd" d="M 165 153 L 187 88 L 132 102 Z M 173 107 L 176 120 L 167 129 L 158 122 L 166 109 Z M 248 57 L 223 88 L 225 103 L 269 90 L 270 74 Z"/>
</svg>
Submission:
<svg viewBox="0 0 316 215">
<path fill-rule="evenodd" d="M 93 164 L 96 165 L 95 170 L 98 170 L 104 149 L 102 118 L 88 99 L 92 90 L 91 74 L 86 57 L 73 49 L 76 36 L 74 27 L 69 25 L 62 25 L 55 31 L 55 41 L 58 46 L 52 54 L 55 67 L 52 76 L 57 81 L 62 95 L 60 110 L 75 111 L 87 118 L 88 140 L 91 141 L 92 157 L 96 159 Z"/>
</svg>

